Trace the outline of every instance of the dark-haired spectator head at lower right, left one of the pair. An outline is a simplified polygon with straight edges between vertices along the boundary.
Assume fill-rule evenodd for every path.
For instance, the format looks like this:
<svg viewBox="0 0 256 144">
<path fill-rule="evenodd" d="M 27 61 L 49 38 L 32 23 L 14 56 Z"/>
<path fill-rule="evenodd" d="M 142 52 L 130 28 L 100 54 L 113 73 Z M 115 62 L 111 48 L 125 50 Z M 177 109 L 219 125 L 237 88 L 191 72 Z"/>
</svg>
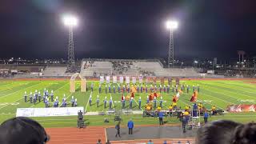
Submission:
<svg viewBox="0 0 256 144">
<path fill-rule="evenodd" d="M 227 120 L 207 123 L 197 132 L 197 144 L 228 144 L 233 141 L 234 130 L 242 124 Z"/>
</svg>

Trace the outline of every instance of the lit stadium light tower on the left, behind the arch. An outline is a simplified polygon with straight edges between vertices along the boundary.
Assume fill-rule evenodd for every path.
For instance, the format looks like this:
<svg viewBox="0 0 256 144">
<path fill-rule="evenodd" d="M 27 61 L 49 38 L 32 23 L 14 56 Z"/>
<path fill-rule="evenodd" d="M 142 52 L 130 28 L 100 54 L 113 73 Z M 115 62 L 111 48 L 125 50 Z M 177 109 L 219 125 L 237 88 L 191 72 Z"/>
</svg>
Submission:
<svg viewBox="0 0 256 144">
<path fill-rule="evenodd" d="M 76 67 L 74 63 L 73 27 L 78 25 L 78 19 L 75 18 L 73 15 L 65 15 L 62 20 L 64 25 L 69 28 L 67 72 L 73 73 L 76 71 Z"/>
</svg>

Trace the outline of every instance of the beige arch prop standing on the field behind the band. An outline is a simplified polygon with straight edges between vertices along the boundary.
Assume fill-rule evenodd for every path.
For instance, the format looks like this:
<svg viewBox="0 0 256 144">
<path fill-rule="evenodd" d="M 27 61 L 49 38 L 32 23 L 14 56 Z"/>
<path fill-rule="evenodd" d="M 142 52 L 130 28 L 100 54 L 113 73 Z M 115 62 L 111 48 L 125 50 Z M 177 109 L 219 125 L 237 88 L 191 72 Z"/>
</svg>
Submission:
<svg viewBox="0 0 256 144">
<path fill-rule="evenodd" d="M 70 93 L 75 92 L 75 79 L 81 79 L 81 92 L 86 92 L 86 78 L 83 78 L 81 74 L 75 73 L 70 78 Z"/>
</svg>

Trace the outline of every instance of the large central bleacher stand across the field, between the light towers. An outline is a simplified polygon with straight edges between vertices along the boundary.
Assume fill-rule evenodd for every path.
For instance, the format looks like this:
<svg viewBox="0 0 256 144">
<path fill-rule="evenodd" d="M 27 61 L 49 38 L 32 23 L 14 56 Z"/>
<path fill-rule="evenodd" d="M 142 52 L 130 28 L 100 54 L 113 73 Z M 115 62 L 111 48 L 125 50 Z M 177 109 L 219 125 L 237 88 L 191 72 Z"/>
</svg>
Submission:
<svg viewBox="0 0 256 144">
<path fill-rule="evenodd" d="M 200 76 L 191 67 L 163 68 L 162 62 L 157 59 L 83 59 L 80 73 L 85 77 L 98 77 L 99 75 L 144 75 L 194 78 Z"/>
</svg>

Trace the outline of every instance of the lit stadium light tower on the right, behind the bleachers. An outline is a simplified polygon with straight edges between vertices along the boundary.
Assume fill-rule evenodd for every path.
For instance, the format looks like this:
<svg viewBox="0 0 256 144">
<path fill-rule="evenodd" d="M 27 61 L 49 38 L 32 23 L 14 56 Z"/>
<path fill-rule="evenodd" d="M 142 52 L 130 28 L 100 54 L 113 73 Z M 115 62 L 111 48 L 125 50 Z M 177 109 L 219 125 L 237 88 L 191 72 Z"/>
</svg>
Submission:
<svg viewBox="0 0 256 144">
<path fill-rule="evenodd" d="M 174 30 L 178 28 L 178 22 L 176 21 L 167 21 L 166 28 L 170 30 L 170 39 L 169 39 L 169 52 L 168 52 L 168 67 L 170 63 L 174 65 Z"/>
</svg>

